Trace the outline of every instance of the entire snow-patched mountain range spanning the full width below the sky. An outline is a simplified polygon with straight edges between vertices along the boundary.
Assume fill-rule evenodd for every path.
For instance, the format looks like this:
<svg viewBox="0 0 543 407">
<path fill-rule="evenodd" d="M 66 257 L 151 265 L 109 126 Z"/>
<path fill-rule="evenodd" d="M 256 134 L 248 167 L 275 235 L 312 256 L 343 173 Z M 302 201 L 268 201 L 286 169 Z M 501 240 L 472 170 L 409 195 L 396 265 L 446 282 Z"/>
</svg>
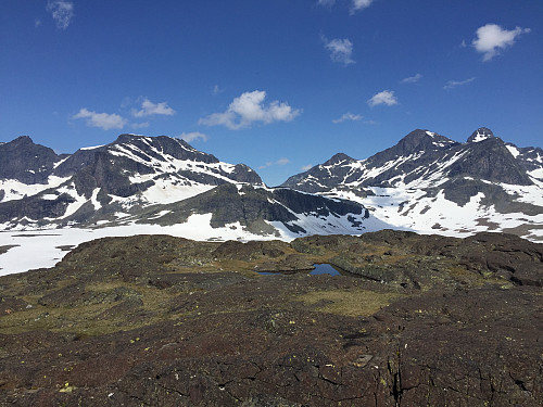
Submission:
<svg viewBox="0 0 543 407">
<path fill-rule="evenodd" d="M 210 239 L 395 228 L 541 241 L 543 150 L 484 127 L 464 143 L 417 129 L 368 158 L 338 153 L 268 188 L 247 165 L 166 136 L 121 135 L 74 154 L 26 136 L 0 144 L 0 230 L 202 222 Z"/>
</svg>

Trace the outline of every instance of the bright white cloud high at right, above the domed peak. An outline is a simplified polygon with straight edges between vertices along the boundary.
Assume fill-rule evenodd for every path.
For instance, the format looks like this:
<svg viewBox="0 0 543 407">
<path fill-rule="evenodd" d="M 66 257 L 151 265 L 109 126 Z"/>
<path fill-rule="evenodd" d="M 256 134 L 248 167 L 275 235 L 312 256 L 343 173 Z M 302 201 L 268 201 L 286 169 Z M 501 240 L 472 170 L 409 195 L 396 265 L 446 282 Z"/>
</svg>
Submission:
<svg viewBox="0 0 543 407">
<path fill-rule="evenodd" d="M 516 27 L 507 30 L 496 24 L 487 24 L 477 29 L 477 38 L 471 41 L 471 44 L 483 54 L 483 61 L 490 61 L 501 49 L 513 46 L 515 39 L 525 33 L 530 33 L 530 28 Z"/>
</svg>

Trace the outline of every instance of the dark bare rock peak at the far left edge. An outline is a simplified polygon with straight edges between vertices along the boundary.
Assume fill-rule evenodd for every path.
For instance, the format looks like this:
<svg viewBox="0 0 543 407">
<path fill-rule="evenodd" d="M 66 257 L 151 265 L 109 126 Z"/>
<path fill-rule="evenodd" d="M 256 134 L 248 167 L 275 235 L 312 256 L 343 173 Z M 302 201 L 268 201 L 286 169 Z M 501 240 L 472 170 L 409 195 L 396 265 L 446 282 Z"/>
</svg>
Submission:
<svg viewBox="0 0 543 407">
<path fill-rule="evenodd" d="M 28 136 L 0 144 L 0 179 L 16 179 L 24 183 L 46 183 L 60 157 Z"/>
</svg>

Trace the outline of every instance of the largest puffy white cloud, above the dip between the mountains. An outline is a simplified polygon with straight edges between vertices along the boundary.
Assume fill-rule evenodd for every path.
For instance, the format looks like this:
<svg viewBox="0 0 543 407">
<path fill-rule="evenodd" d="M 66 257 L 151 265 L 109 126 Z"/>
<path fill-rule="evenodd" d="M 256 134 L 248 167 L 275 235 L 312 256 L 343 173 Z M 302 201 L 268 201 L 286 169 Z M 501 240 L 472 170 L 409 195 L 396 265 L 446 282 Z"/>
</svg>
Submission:
<svg viewBox="0 0 543 407">
<path fill-rule="evenodd" d="M 228 109 L 223 113 L 213 113 L 199 120 L 199 124 L 206 126 L 226 126 L 236 130 L 243 127 L 251 127 L 253 123 L 268 125 L 273 122 L 290 122 L 302 113 L 301 110 L 292 109 L 285 102 L 274 101 L 264 105 L 266 92 L 254 90 L 244 92 L 233 99 Z"/>
</svg>

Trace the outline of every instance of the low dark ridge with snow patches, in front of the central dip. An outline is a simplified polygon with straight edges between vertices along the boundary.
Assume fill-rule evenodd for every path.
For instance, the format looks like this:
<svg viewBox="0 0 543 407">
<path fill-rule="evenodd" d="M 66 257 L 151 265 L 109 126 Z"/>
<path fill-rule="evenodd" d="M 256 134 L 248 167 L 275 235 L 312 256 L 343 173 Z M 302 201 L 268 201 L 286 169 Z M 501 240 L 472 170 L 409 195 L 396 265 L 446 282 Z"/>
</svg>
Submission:
<svg viewBox="0 0 543 407">
<path fill-rule="evenodd" d="M 278 238 L 351 234 L 387 227 L 369 219 L 369 212 L 356 202 L 291 189 L 230 183 L 185 201 L 149 207 L 137 218 L 140 224 L 169 226 L 186 222 L 192 215 L 207 214 L 214 228 L 243 228 L 254 234 Z"/>
</svg>

